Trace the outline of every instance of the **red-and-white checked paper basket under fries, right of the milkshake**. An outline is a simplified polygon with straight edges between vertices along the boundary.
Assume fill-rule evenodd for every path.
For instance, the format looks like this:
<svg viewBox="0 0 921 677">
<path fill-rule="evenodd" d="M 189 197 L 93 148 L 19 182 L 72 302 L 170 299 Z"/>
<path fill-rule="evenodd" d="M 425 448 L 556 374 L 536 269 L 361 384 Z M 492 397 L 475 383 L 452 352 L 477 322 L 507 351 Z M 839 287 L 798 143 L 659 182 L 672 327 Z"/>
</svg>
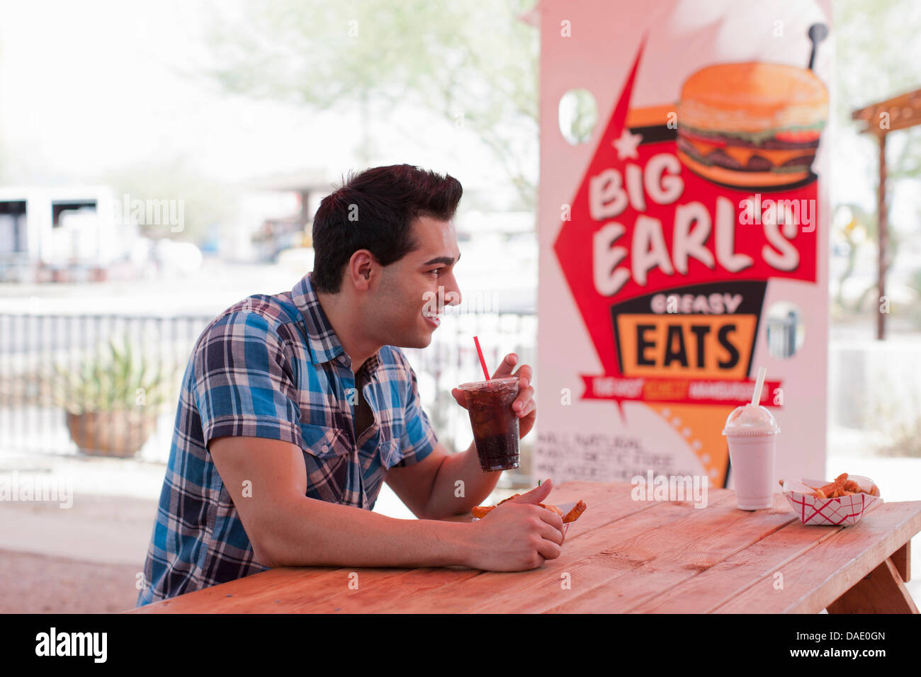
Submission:
<svg viewBox="0 0 921 677">
<path fill-rule="evenodd" d="M 877 488 L 877 496 L 871 496 L 869 493 L 876 484 L 869 477 L 862 475 L 848 475 L 848 480 L 857 482 L 860 487 L 859 494 L 851 496 L 840 496 L 838 498 L 817 498 L 813 496 L 812 487 L 824 486 L 831 484 L 832 481 L 809 480 L 809 479 L 785 479 L 780 484 L 784 487 L 784 496 L 787 496 L 787 502 L 790 508 L 799 515 L 803 524 L 828 524 L 832 526 L 851 526 L 869 512 L 872 508 L 882 503 Z"/>
</svg>

